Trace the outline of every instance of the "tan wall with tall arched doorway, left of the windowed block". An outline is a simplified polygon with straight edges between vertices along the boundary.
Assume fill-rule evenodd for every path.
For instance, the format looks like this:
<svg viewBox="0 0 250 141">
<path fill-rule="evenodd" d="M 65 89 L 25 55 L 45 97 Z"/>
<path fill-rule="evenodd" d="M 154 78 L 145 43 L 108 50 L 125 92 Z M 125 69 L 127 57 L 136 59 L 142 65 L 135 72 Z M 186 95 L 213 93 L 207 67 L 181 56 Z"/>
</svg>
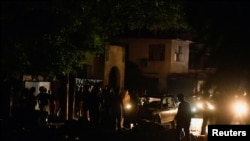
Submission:
<svg viewBox="0 0 250 141">
<path fill-rule="evenodd" d="M 117 87 L 124 87 L 125 75 L 125 49 L 119 45 L 107 44 L 105 46 L 105 55 L 102 57 L 89 56 L 88 78 L 103 80 L 103 86 L 109 85 L 111 71 L 115 70 Z M 115 69 L 114 69 L 115 68 Z"/>
</svg>

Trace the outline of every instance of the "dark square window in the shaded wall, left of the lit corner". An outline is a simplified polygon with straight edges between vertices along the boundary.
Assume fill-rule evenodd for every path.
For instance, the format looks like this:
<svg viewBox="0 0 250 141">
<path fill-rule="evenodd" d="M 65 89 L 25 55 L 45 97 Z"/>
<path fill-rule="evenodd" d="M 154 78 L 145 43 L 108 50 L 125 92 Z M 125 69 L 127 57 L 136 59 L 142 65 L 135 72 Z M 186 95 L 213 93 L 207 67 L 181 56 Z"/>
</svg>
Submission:
<svg viewBox="0 0 250 141">
<path fill-rule="evenodd" d="M 149 61 L 164 61 L 165 60 L 165 45 L 152 44 L 149 45 Z"/>
</svg>

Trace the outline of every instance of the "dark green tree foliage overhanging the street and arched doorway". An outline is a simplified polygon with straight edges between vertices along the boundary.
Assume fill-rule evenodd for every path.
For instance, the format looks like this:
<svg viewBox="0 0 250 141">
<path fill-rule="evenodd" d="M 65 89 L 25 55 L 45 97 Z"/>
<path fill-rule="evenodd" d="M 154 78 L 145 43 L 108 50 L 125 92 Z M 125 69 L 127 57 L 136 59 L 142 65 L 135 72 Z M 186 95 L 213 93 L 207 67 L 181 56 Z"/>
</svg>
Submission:
<svg viewBox="0 0 250 141">
<path fill-rule="evenodd" d="M 186 31 L 181 1 L 4 1 L 1 72 L 73 73 L 125 31 Z"/>
</svg>

